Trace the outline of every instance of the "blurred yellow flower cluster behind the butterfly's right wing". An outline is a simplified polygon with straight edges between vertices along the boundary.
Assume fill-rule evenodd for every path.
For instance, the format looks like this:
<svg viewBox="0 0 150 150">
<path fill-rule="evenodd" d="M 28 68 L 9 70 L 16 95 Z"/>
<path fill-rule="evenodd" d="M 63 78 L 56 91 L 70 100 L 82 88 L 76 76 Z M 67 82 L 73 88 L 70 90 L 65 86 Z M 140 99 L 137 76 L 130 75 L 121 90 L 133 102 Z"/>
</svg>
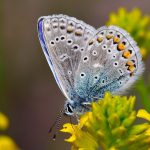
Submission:
<svg viewBox="0 0 150 150">
<path fill-rule="evenodd" d="M 142 16 L 140 9 L 127 12 L 125 8 L 120 8 L 118 13 L 110 14 L 107 24 L 127 30 L 140 46 L 143 58 L 150 52 L 150 16 Z"/>
</svg>

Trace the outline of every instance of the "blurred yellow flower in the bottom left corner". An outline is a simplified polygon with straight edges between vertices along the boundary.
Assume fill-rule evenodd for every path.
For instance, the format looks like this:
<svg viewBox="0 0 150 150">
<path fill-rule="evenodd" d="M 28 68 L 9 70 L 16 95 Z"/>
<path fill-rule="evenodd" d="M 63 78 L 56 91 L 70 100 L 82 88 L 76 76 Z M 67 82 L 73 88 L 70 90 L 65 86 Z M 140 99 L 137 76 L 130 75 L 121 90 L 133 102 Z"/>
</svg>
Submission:
<svg viewBox="0 0 150 150">
<path fill-rule="evenodd" d="M 0 150 L 19 150 L 15 142 L 8 136 L 0 136 Z"/>
</svg>

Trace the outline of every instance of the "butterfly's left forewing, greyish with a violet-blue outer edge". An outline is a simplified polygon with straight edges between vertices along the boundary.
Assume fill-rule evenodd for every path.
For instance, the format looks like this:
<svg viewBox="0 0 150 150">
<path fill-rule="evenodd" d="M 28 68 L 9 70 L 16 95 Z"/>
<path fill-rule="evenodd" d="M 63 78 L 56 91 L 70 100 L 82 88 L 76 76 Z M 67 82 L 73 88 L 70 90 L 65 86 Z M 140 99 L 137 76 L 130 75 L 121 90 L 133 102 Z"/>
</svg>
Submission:
<svg viewBox="0 0 150 150">
<path fill-rule="evenodd" d="M 95 32 L 90 25 L 65 15 L 38 20 L 39 39 L 45 57 L 58 86 L 68 99 L 74 90 L 74 76 L 81 55 Z"/>
</svg>

